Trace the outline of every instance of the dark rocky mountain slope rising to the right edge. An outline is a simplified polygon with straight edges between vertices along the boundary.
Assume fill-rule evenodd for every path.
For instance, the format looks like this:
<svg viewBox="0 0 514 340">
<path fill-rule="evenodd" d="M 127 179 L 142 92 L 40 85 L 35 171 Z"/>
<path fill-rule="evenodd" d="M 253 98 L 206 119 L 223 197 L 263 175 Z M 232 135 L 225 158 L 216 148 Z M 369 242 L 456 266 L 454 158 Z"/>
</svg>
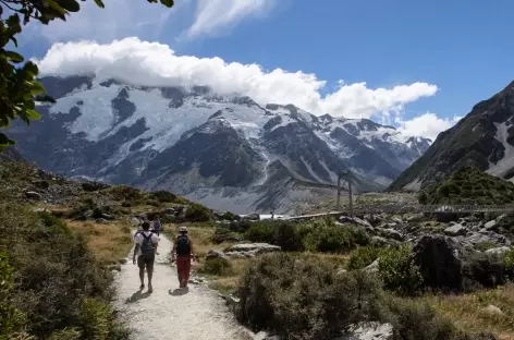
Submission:
<svg viewBox="0 0 514 340">
<path fill-rule="evenodd" d="M 514 82 L 477 104 L 455 126 L 439 134 L 430 148 L 406 169 L 390 190 L 419 190 L 463 166 L 514 177 Z"/>
</svg>

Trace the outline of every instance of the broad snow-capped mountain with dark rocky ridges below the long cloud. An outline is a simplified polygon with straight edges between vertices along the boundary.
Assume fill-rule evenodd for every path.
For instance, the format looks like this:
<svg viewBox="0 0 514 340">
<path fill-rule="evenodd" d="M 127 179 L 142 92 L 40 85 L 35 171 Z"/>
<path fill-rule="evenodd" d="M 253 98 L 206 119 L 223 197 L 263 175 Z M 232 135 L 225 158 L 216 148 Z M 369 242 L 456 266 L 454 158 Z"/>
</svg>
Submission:
<svg viewBox="0 0 514 340">
<path fill-rule="evenodd" d="M 333 194 L 343 169 L 353 171 L 357 190 L 381 190 L 430 145 L 370 120 L 260 106 L 203 86 L 148 88 L 87 76 L 41 82 L 57 102 L 38 106 L 41 121 L 9 131 L 27 160 L 236 212 L 280 212 L 315 197 L 313 187 Z"/>
</svg>

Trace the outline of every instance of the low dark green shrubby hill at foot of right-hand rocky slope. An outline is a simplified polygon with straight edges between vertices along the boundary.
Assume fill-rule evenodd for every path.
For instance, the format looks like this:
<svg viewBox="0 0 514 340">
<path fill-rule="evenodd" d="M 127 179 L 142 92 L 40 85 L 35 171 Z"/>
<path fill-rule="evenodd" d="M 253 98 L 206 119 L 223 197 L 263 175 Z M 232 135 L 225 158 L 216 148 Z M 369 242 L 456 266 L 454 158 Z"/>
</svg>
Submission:
<svg viewBox="0 0 514 340">
<path fill-rule="evenodd" d="M 427 186 L 420 194 L 423 204 L 487 204 L 514 203 L 514 184 L 480 171 L 464 167 L 440 183 Z"/>
</svg>

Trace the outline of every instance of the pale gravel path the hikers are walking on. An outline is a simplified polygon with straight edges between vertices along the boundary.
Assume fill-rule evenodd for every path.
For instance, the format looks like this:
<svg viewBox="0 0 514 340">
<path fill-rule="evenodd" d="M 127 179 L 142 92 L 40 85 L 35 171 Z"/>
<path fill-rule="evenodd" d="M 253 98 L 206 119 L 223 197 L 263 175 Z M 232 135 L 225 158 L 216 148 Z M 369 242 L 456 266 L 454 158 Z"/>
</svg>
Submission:
<svg viewBox="0 0 514 340">
<path fill-rule="evenodd" d="M 146 288 L 138 291 L 138 268 L 132 264 L 132 252 L 128 263 L 117 275 L 115 308 L 133 330 L 131 339 L 252 339 L 213 291 L 191 283 L 188 290 L 179 289 L 176 268 L 170 266 L 171 246 L 170 240 L 161 234 L 152 279 L 154 293 L 148 294 Z"/>
</svg>

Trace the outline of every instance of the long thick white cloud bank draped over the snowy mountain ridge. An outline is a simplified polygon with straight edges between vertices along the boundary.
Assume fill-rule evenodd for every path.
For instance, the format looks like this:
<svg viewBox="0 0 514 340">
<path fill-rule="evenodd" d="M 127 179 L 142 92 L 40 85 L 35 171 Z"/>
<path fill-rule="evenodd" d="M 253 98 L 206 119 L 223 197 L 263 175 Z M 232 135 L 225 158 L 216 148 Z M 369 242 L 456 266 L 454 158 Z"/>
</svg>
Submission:
<svg viewBox="0 0 514 340">
<path fill-rule="evenodd" d="M 315 74 L 281 69 L 265 71 L 258 64 L 227 63 L 220 58 L 176 56 L 169 46 L 138 38 L 99 45 L 90 41 L 54 44 L 36 61 L 44 75 L 96 74 L 143 86 L 207 85 L 220 95 L 241 94 L 259 104 L 294 104 L 314 114 L 370 118 L 401 110 L 421 97 L 433 96 L 436 85 L 414 83 L 392 88 L 345 84 L 326 96 L 326 82 Z"/>
</svg>

